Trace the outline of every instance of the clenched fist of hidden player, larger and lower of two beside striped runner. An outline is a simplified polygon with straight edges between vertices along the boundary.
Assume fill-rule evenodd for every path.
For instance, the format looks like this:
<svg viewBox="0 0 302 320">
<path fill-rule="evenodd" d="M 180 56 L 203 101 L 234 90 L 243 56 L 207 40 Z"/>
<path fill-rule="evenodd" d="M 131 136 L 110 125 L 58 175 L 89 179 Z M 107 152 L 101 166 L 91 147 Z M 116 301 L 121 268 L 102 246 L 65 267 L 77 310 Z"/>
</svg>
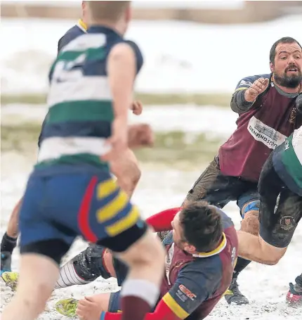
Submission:
<svg viewBox="0 0 302 320">
<path fill-rule="evenodd" d="M 149 124 L 133 124 L 128 128 L 129 148 L 151 147 L 154 144 L 154 134 Z"/>
</svg>

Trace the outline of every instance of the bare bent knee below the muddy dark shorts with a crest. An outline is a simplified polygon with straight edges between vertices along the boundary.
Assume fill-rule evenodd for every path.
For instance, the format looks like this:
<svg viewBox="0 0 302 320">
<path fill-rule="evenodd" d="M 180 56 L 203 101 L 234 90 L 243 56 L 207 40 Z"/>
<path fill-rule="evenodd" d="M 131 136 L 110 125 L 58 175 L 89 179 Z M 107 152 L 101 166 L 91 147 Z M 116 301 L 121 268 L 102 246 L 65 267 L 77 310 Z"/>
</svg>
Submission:
<svg viewBox="0 0 302 320">
<path fill-rule="evenodd" d="M 274 265 L 286 251 L 286 248 L 276 248 L 265 243 L 260 236 L 254 236 L 251 233 L 237 231 L 237 236 L 239 243 L 238 255 L 247 260 Z"/>
</svg>

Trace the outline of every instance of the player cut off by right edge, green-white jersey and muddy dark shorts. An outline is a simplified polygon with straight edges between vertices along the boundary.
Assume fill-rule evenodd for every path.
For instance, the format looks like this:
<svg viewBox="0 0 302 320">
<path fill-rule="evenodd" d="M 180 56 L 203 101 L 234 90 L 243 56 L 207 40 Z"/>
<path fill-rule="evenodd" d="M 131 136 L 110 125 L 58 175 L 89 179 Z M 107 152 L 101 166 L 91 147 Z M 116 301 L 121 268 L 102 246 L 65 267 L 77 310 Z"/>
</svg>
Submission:
<svg viewBox="0 0 302 320">
<path fill-rule="evenodd" d="M 302 95 L 300 97 L 302 99 Z M 263 264 L 277 264 L 302 217 L 302 127 L 265 162 L 258 191 L 261 200 L 259 235 L 238 231 L 239 255 Z M 296 278 L 287 300 L 302 304 L 302 276 Z"/>
</svg>

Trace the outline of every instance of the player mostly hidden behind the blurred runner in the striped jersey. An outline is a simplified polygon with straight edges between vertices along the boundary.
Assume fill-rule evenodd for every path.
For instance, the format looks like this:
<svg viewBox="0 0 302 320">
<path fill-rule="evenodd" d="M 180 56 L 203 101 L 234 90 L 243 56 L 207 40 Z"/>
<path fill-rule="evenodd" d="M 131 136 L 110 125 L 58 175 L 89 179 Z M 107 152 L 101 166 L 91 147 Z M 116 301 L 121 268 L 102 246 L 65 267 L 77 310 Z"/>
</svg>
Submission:
<svg viewBox="0 0 302 320">
<path fill-rule="evenodd" d="M 86 1 L 82 1 L 82 17 L 79 22 L 67 30 L 67 32 L 58 41 L 58 53 L 70 43 L 70 41 L 87 32 L 87 4 Z M 142 113 L 143 106 L 140 102 L 136 101 L 132 103 L 131 110 L 135 115 Z M 44 126 L 44 122 L 42 127 Z M 40 145 L 40 138 L 38 146 Z M 129 126 L 128 129 L 128 141 L 129 148 L 139 148 L 141 146 L 152 146 L 153 138 L 150 127 L 147 124 L 135 124 Z M 138 166 L 138 160 L 131 150 L 125 151 L 120 155 L 118 159 L 112 162 L 110 167 L 111 172 L 117 177 L 119 186 L 131 196 L 135 190 L 138 181 L 140 179 L 140 168 Z M 11 217 L 8 220 L 8 226 L 6 233 L 1 240 L 1 256 L 0 256 L 0 274 L 5 271 L 11 271 L 11 255 L 17 244 L 18 238 L 18 222 L 19 211 L 22 199 L 13 208 Z"/>
</svg>

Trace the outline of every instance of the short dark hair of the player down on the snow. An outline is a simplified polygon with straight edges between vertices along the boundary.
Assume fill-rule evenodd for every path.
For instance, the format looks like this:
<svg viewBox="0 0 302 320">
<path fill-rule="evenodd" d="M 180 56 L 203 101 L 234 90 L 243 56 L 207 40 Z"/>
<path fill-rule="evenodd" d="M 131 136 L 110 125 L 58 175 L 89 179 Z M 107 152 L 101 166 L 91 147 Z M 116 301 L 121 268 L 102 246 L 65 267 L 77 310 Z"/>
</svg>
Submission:
<svg viewBox="0 0 302 320">
<path fill-rule="evenodd" d="M 185 240 L 198 252 L 216 249 L 223 236 L 221 215 L 216 207 L 205 201 L 188 203 L 181 210 L 179 219 Z"/>
</svg>

